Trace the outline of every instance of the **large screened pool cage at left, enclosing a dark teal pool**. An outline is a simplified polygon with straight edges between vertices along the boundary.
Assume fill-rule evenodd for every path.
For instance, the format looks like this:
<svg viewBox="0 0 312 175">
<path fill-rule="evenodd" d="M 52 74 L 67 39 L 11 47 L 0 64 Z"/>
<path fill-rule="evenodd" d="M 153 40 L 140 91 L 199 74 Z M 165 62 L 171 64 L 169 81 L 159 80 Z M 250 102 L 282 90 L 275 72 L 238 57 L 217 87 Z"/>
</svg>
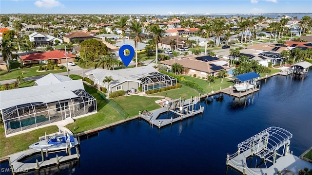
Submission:
<svg viewBox="0 0 312 175">
<path fill-rule="evenodd" d="M 5 134 L 12 134 L 67 118 L 97 111 L 97 100 L 82 89 L 73 91 L 77 97 L 54 102 L 32 102 L 1 110 Z"/>
</svg>

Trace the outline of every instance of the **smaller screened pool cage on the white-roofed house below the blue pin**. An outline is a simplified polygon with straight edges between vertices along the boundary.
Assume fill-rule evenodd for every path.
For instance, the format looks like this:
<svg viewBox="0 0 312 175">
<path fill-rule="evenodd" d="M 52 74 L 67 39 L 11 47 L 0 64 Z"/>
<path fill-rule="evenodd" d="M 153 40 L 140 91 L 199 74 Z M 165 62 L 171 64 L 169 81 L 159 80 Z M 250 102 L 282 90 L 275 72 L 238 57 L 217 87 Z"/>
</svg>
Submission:
<svg viewBox="0 0 312 175">
<path fill-rule="evenodd" d="M 149 90 L 175 86 L 177 83 L 176 78 L 160 72 L 149 73 L 144 77 L 139 78 L 138 80 L 140 81 L 140 87 L 142 87 L 142 92 L 144 93 Z"/>
</svg>

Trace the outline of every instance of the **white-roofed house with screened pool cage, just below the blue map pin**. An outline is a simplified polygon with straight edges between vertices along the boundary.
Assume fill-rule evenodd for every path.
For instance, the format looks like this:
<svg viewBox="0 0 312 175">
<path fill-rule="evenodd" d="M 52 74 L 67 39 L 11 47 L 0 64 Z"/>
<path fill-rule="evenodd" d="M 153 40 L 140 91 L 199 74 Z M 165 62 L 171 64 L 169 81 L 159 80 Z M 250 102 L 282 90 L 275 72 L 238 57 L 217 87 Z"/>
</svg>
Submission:
<svg viewBox="0 0 312 175">
<path fill-rule="evenodd" d="M 152 66 L 119 70 L 95 69 L 85 74 L 93 79 L 95 85 L 108 89 L 109 93 L 117 90 L 135 92 L 138 87 L 142 87 L 142 92 L 145 93 L 148 90 L 174 86 L 177 83 L 176 78 L 160 73 Z M 108 76 L 111 76 L 113 81 L 109 84 L 103 83 Z"/>
</svg>

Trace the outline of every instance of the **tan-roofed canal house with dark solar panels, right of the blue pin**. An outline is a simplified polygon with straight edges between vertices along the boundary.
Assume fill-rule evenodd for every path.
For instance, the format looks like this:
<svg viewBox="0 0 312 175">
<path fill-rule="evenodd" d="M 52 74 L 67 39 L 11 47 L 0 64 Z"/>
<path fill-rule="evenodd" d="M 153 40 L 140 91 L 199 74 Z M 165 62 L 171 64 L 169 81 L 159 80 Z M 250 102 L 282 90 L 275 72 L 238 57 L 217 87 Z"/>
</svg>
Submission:
<svg viewBox="0 0 312 175">
<path fill-rule="evenodd" d="M 228 60 L 210 55 L 187 55 L 181 58 L 174 58 L 159 62 L 159 64 L 166 65 L 169 69 L 172 69 L 171 66 L 175 63 L 182 65 L 184 68 L 188 68 L 189 71 L 184 72 L 185 74 L 196 77 L 206 77 L 207 75 L 217 76 L 216 72 L 229 68 Z"/>
</svg>

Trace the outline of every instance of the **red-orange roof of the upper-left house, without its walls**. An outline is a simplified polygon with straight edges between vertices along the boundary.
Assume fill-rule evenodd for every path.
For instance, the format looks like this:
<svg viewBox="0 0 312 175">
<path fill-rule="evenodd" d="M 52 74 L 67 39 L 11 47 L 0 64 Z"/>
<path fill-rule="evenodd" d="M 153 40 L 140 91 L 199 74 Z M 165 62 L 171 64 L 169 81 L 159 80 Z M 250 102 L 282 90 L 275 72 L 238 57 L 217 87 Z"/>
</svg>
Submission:
<svg viewBox="0 0 312 175">
<path fill-rule="evenodd" d="M 67 58 L 75 58 L 76 55 L 67 53 Z M 32 53 L 29 55 L 21 56 L 20 59 L 23 61 L 31 60 L 48 60 L 48 59 L 61 59 L 65 58 L 65 51 L 51 51 L 46 53 Z"/>
</svg>

